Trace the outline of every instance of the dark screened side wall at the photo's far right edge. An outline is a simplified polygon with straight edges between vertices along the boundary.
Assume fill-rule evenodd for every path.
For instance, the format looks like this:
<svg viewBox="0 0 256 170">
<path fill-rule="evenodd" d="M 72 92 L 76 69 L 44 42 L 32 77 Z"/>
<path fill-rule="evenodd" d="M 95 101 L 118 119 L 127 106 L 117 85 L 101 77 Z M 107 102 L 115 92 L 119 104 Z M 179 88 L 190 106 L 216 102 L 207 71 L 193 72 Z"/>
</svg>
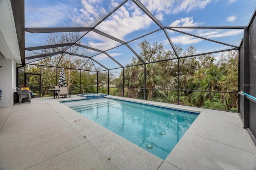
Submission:
<svg viewBox="0 0 256 170">
<path fill-rule="evenodd" d="M 246 28 L 243 44 L 240 46 L 240 91 L 256 97 L 256 11 Z M 240 96 L 239 113 L 244 120 L 244 128 L 248 128 L 256 144 L 256 103 L 246 95 Z"/>
</svg>

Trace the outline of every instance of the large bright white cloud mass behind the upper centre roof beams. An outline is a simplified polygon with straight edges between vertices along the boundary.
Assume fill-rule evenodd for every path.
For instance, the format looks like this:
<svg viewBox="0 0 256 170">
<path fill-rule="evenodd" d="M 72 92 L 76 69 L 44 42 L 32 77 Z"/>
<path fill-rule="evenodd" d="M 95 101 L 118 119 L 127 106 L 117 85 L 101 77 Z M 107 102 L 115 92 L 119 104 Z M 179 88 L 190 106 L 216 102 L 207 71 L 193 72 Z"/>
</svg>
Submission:
<svg viewBox="0 0 256 170">
<path fill-rule="evenodd" d="M 95 22 L 95 18 L 99 18 L 99 16 L 104 12 L 102 13 L 98 10 L 92 10 L 91 6 L 92 4 L 90 5 L 88 2 L 84 2 L 84 8 L 88 8 L 88 10 L 80 10 L 80 16 L 74 18 L 75 20 L 73 20 L 73 22 L 78 25 L 82 24 L 82 26 L 92 25 L 92 22 Z M 94 18 L 94 20 L 92 20 L 92 22 L 91 20 L 85 21 L 85 16 L 87 16 L 87 18 L 90 16 Z M 111 36 L 114 36 L 120 40 L 124 40 L 124 37 L 126 35 L 134 31 L 146 29 L 150 26 L 152 22 L 153 21 L 146 14 L 144 14 L 133 2 L 128 2 L 124 6 L 121 6 L 106 20 L 100 23 L 96 27 L 96 29 L 105 32 L 106 34 L 109 34 Z M 119 44 L 116 41 L 98 35 L 94 32 L 88 33 L 86 35 L 86 38 L 91 39 L 91 41 L 88 42 L 88 44 L 91 47 L 98 48 L 101 50 L 106 50 Z"/>
</svg>

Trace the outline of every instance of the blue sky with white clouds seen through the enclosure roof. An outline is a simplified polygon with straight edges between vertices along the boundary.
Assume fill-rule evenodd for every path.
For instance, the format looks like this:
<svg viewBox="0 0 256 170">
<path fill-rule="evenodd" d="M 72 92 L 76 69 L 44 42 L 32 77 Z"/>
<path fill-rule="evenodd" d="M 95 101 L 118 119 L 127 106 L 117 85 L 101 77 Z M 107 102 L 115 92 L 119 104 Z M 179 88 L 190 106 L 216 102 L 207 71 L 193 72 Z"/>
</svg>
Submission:
<svg viewBox="0 0 256 170">
<path fill-rule="evenodd" d="M 93 27 L 122 2 L 123 0 L 25 0 L 25 27 Z M 163 26 L 247 26 L 256 7 L 256 0 L 140 0 L 140 2 Z M 160 27 L 134 2 L 128 0 L 95 28 L 128 42 Z M 178 30 L 234 46 L 240 45 L 244 32 L 243 29 Z M 196 47 L 196 53 L 233 48 L 168 29 L 166 31 L 172 43 L 179 45 L 184 51 L 190 45 Z M 48 35 L 26 32 L 25 47 L 45 45 Z M 163 30 L 128 44 L 139 54 L 141 49 L 138 43 L 143 40 L 162 43 L 164 49 L 172 50 Z M 86 34 L 82 38 L 82 43 L 107 51 L 124 66 L 130 63 L 134 56 L 126 45 L 111 49 L 120 43 L 95 32 Z M 89 51 L 89 53 L 89 56 L 93 56 L 98 52 Z M 26 51 L 26 56 L 29 55 L 32 53 Z M 109 69 L 119 67 L 105 54 L 93 58 L 100 63 L 108 63 L 106 67 Z"/>
</svg>

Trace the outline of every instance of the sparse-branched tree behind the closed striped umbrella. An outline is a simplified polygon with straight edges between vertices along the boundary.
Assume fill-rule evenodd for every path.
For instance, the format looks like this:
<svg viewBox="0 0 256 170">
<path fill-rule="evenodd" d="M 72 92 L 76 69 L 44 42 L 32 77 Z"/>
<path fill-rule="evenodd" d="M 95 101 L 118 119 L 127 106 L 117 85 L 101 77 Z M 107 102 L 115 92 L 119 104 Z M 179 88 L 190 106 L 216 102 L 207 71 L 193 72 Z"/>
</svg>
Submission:
<svg viewBox="0 0 256 170">
<path fill-rule="evenodd" d="M 46 45 L 52 44 L 62 44 L 62 43 L 70 43 L 76 42 L 80 38 L 79 33 L 61 33 L 61 34 L 50 34 L 48 39 L 45 41 Z M 76 42 L 78 44 L 82 44 L 82 39 Z M 44 53 L 54 53 L 57 51 L 63 51 L 80 54 L 80 55 L 88 55 L 88 50 L 85 48 L 78 47 L 76 45 L 72 45 L 71 47 L 55 47 L 50 49 L 41 49 L 40 52 L 35 52 L 36 55 L 44 54 Z M 42 75 L 42 96 L 46 94 L 47 89 L 50 87 L 54 87 L 56 84 L 56 78 L 58 80 L 58 75 L 56 77 L 56 68 L 57 67 L 65 67 L 71 69 L 64 69 L 66 83 L 67 86 L 72 87 L 76 85 L 80 79 L 80 72 L 78 69 L 81 69 L 82 66 L 88 61 L 87 58 L 78 57 L 75 55 L 63 54 L 63 55 L 55 55 L 52 57 L 47 57 L 45 59 L 41 59 L 37 61 L 34 66 L 30 66 L 26 72 L 31 73 L 40 73 Z M 47 65 L 52 67 L 42 67 L 39 65 Z M 86 65 L 87 69 L 92 67 L 92 63 L 88 62 Z M 73 69 L 72 69 L 73 68 Z M 58 68 L 58 73 L 60 73 L 60 68 Z M 58 82 L 58 81 L 57 81 Z"/>
</svg>

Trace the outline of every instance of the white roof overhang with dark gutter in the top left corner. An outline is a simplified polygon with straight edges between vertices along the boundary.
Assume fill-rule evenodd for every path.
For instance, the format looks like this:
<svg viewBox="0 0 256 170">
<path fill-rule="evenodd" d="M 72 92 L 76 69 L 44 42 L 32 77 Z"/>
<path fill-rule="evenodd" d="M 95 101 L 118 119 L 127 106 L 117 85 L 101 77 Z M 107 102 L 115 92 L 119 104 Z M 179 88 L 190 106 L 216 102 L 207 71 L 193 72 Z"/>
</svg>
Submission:
<svg viewBox="0 0 256 170">
<path fill-rule="evenodd" d="M 25 63 L 24 0 L 0 1 L 0 52 L 17 64 Z"/>
</svg>

